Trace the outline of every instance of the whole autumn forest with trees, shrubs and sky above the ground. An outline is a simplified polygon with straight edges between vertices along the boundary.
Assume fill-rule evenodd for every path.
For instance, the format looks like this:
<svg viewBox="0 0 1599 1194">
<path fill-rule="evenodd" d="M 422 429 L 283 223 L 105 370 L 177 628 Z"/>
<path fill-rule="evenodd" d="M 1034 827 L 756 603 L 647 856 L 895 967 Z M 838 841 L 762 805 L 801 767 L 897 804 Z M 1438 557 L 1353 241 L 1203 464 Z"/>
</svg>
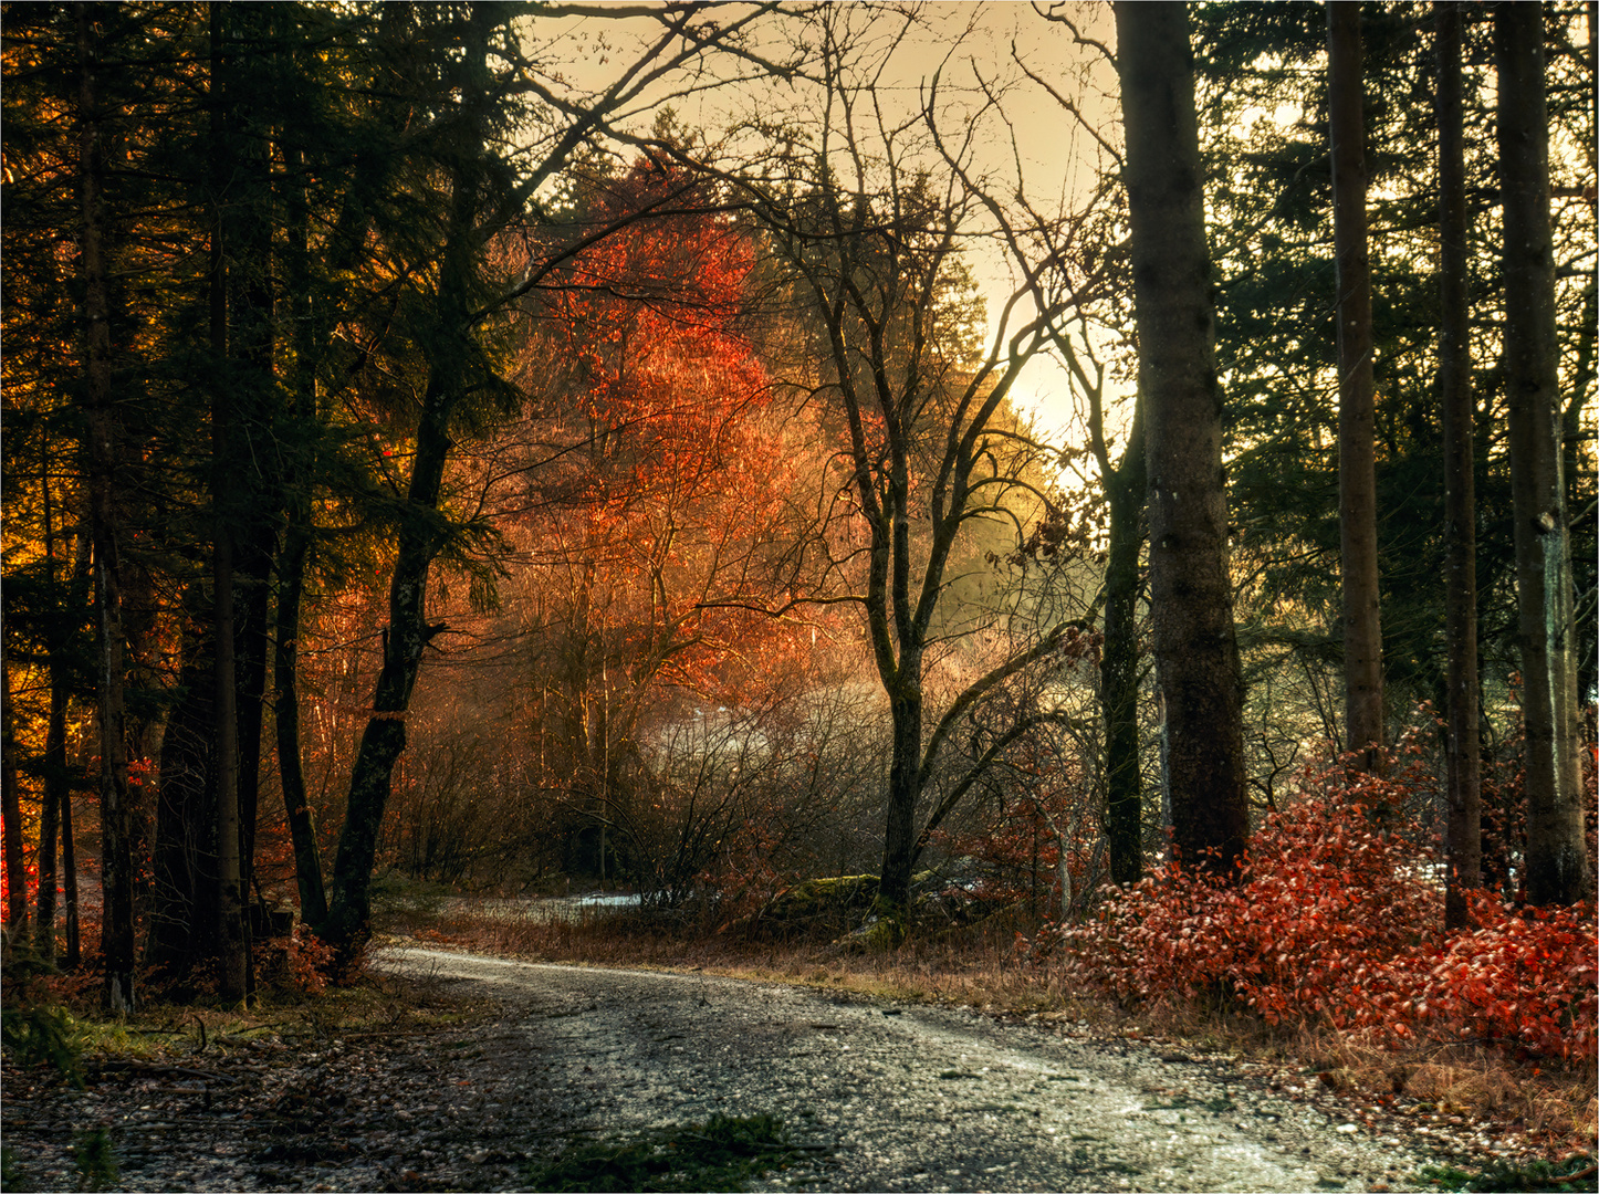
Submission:
<svg viewBox="0 0 1599 1194">
<path fill-rule="evenodd" d="M 0 21 L 8 967 L 809 894 L 1591 1065 L 1591 3 Z"/>
</svg>

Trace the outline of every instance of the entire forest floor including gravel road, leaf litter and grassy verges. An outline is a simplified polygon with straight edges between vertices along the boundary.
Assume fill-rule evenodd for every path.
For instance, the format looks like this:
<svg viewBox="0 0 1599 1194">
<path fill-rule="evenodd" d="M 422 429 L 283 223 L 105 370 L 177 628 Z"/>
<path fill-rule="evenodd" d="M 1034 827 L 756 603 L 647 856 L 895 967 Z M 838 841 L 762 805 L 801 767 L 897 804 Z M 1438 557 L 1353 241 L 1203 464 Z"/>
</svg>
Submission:
<svg viewBox="0 0 1599 1194">
<path fill-rule="evenodd" d="M 1500 1165 L 1500 1189 L 1559 1189 L 1529 1162 L 1593 1151 L 1583 1076 L 1455 1049 L 1383 1084 L 1327 1042 L 1051 993 L 972 941 L 891 961 L 504 924 L 411 909 L 353 988 L 102 1029 L 83 1090 L 6 1057 L 5 1189 L 604 1188 L 548 1165 L 678 1156 L 659 1133 L 713 1114 L 792 1135 L 684 1188 L 1420 1189 Z"/>
</svg>

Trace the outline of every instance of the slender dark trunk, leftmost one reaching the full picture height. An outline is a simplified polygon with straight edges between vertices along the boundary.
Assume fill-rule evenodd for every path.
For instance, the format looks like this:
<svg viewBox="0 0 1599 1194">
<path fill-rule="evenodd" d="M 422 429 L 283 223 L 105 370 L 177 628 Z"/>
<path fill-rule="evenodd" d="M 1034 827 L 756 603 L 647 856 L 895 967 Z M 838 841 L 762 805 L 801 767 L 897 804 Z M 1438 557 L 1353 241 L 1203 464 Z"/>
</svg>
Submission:
<svg viewBox="0 0 1599 1194">
<path fill-rule="evenodd" d="M 106 1004 L 112 1012 L 134 1009 L 133 855 L 128 817 L 128 758 L 122 585 L 118 564 L 117 467 L 122 435 L 112 409 L 110 323 L 101 224 L 101 113 L 96 94 L 98 46 L 86 3 L 75 5 L 78 35 L 78 238 L 83 280 L 85 424 L 88 433 L 90 534 L 94 540 L 94 607 L 98 615 L 98 724 L 101 804 L 101 957 L 106 967 Z"/>
</svg>

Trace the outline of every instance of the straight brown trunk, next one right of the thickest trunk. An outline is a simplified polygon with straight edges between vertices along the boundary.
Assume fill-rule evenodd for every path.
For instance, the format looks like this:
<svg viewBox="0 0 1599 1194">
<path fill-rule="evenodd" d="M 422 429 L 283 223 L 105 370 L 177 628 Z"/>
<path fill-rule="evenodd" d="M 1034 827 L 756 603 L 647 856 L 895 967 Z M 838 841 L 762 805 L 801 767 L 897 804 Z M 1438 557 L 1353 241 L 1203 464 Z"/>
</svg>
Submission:
<svg viewBox="0 0 1599 1194">
<path fill-rule="evenodd" d="M 1359 0 L 1327 5 L 1332 237 L 1338 257 L 1338 531 L 1343 547 L 1343 719 L 1362 770 L 1382 766 L 1383 631 L 1377 604 L 1377 380 L 1366 243 Z"/>
</svg>

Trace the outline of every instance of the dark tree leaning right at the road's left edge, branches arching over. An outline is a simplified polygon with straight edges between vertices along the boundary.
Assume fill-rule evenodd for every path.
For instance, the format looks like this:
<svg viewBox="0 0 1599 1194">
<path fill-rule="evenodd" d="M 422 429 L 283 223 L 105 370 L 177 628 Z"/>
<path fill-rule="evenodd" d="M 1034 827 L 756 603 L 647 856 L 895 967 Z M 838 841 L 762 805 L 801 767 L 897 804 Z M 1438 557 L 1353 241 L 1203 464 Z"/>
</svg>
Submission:
<svg viewBox="0 0 1599 1194">
<path fill-rule="evenodd" d="M 500 369 L 504 337 L 515 323 L 515 302 L 537 289 L 563 262 L 648 213 L 588 232 L 576 245 L 558 245 L 510 270 L 508 235 L 539 224 L 539 192 L 579 152 L 609 131 L 609 121 L 659 80 L 723 48 L 753 69 L 790 70 L 740 51 L 740 38 L 772 5 L 740 10 L 726 19 L 702 19 L 696 6 L 651 13 L 659 32 L 593 96 L 574 99 L 528 59 L 516 11 L 496 5 L 385 10 L 390 38 L 390 93 L 429 113 L 409 147 L 403 184 L 413 203 L 379 216 L 395 289 L 397 358 L 411 393 L 409 475 L 397 494 L 393 569 L 384 663 L 350 775 L 350 794 L 329 882 L 326 937 L 349 953 L 369 932 L 368 887 L 389 801 L 395 762 L 406 743 L 405 714 L 422 654 L 445 631 L 429 620 L 429 577 L 445 551 L 465 559 L 473 535 L 486 527 L 456 524 L 446 511 L 445 478 L 462 436 L 480 435 L 518 403 Z M 620 10 L 619 10 L 620 11 Z M 604 10 L 596 10 L 603 14 Z M 691 83 L 718 86 L 726 77 Z M 414 107 L 413 107 L 414 105 Z M 539 118 L 540 126 L 528 121 Z M 534 149 L 524 149 L 532 129 Z M 523 245 L 539 248 L 531 237 Z M 374 313 L 376 324 L 387 318 Z M 371 331 L 377 331 L 373 328 Z M 381 385 L 389 385 L 381 380 Z"/>
</svg>

